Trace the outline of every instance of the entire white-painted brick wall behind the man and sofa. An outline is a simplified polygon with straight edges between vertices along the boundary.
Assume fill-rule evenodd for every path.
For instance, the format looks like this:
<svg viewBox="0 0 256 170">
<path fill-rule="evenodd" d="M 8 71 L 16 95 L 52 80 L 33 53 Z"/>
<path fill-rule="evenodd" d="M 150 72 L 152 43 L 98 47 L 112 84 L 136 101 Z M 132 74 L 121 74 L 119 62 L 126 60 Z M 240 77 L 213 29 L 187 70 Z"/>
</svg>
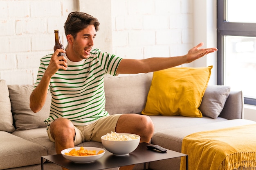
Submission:
<svg viewBox="0 0 256 170">
<path fill-rule="evenodd" d="M 185 54 L 193 46 L 192 6 L 193 0 L 1 0 L 0 79 L 34 83 L 40 58 L 53 52 L 55 29 L 66 46 L 71 11 L 98 17 L 96 42 L 108 43 L 107 52 L 131 59 Z"/>
</svg>

